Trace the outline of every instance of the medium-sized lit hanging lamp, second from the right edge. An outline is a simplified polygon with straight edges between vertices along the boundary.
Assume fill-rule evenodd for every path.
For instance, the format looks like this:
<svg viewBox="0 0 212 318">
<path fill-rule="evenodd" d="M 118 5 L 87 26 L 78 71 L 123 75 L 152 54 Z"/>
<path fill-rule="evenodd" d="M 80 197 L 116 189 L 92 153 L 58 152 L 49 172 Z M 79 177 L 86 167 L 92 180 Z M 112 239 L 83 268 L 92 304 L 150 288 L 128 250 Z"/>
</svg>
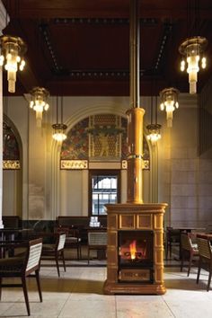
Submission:
<svg viewBox="0 0 212 318">
<path fill-rule="evenodd" d="M 176 88 L 164 88 L 160 92 L 161 104 L 160 109 L 166 111 L 167 127 L 172 127 L 173 111 L 179 108 L 178 102 L 179 91 Z"/>
</svg>

